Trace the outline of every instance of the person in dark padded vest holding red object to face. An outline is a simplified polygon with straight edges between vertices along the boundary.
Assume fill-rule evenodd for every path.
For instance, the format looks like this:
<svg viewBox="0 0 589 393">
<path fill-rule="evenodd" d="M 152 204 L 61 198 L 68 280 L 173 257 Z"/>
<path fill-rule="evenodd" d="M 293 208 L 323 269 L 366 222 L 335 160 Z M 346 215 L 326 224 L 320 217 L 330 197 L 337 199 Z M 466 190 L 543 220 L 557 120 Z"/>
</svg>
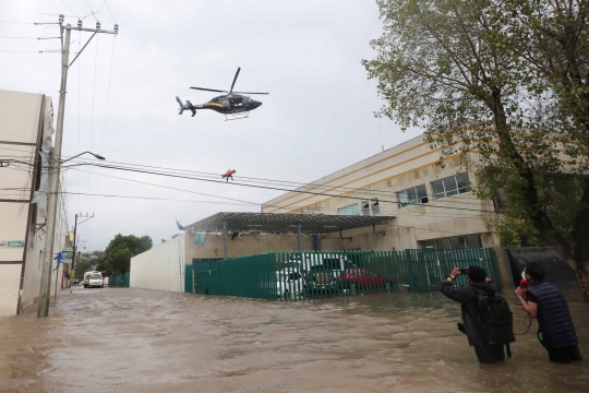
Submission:
<svg viewBox="0 0 589 393">
<path fill-rule="evenodd" d="M 526 264 L 522 273 L 528 289 L 516 289 L 524 310 L 538 319 L 538 340 L 555 362 L 580 361 L 579 341 L 565 297 L 554 285 L 544 283 L 544 270 L 536 262 Z"/>
</svg>

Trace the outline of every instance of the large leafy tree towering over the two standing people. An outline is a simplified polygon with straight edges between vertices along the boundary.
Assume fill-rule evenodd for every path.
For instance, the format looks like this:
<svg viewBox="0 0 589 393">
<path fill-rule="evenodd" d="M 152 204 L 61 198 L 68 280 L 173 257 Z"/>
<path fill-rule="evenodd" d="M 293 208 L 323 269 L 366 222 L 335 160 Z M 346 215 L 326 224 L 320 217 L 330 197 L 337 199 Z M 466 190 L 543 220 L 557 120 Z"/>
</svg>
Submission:
<svg viewBox="0 0 589 393">
<path fill-rule="evenodd" d="M 362 63 L 386 102 L 377 116 L 424 128 L 442 147 L 440 165 L 461 154 L 476 168 L 478 196 L 506 196 L 502 214 L 489 217 L 502 243 L 527 236 L 554 247 L 576 262 L 587 294 L 589 259 L 574 239 L 589 196 L 580 187 L 587 130 L 566 121 L 575 111 L 563 109 L 557 72 L 551 78 L 521 55 L 517 40 L 538 26 L 515 17 L 517 1 L 377 0 L 384 34 L 371 41 L 376 58 Z"/>
</svg>

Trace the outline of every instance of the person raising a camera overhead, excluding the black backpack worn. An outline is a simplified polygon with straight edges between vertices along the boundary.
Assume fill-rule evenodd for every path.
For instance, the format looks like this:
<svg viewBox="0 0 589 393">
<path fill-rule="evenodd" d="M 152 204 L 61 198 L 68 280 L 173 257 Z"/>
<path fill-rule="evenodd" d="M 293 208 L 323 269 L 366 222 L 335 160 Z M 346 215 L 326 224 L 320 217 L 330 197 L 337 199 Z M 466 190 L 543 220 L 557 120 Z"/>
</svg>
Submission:
<svg viewBox="0 0 589 393">
<path fill-rule="evenodd" d="M 441 290 L 447 298 L 459 302 L 462 309 L 464 331 L 470 346 L 474 347 L 474 354 L 482 364 L 494 364 L 505 359 L 504 346 L 508 343 L 490 343 L 486 340 L 485 326 L 479 315 L 479 295 L 494 296 L 500 293 L 497 284 L 486 277 L 484 269 L 469 266 L 468 287 L 458 288 L 453 285 L 460 275 L 460 270 L 455 267 L 449 277 L 442 282 Z M 509 327 L 508 342 L 514 342 L 515 336 Z"/>
</svg>

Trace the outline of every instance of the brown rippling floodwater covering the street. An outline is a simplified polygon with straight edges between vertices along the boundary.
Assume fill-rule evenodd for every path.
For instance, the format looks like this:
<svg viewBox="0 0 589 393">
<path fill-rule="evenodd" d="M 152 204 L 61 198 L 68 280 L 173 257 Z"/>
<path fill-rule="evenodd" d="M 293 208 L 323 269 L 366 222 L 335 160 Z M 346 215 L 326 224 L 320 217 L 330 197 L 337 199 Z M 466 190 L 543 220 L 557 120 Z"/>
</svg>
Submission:
<svg viewBox="0 0 589 393">
<path fill-rule="evenodd" d="M 587 360 L 551 364 L 534 324 L 513 359 L 480 365 L 440 294 L 279 302 L 76 287 L 46 320 L 0 318 L 0 391 L 587 392 L 589 305 L 569 305 Z"/>
</svg>

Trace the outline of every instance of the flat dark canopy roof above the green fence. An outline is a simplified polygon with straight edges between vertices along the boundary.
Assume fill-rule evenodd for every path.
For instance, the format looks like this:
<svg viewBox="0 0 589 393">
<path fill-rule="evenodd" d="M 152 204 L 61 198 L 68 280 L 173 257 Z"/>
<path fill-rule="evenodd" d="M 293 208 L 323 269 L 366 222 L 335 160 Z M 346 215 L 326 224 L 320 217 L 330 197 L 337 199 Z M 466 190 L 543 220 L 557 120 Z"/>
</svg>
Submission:
<svg viewBox="0 0 589 393">
<path fill-rule="evenodd" d="M 217 213 L 185 226 L 190 233 L 223 233 L 227 223 L 228 233 L 256 231 L 263 234 L 329 234 L 346 229 L 387 224 L 395 216 L 345 216 L 324 214 L 274 214 L 274 213 Z"/>
</svg>

